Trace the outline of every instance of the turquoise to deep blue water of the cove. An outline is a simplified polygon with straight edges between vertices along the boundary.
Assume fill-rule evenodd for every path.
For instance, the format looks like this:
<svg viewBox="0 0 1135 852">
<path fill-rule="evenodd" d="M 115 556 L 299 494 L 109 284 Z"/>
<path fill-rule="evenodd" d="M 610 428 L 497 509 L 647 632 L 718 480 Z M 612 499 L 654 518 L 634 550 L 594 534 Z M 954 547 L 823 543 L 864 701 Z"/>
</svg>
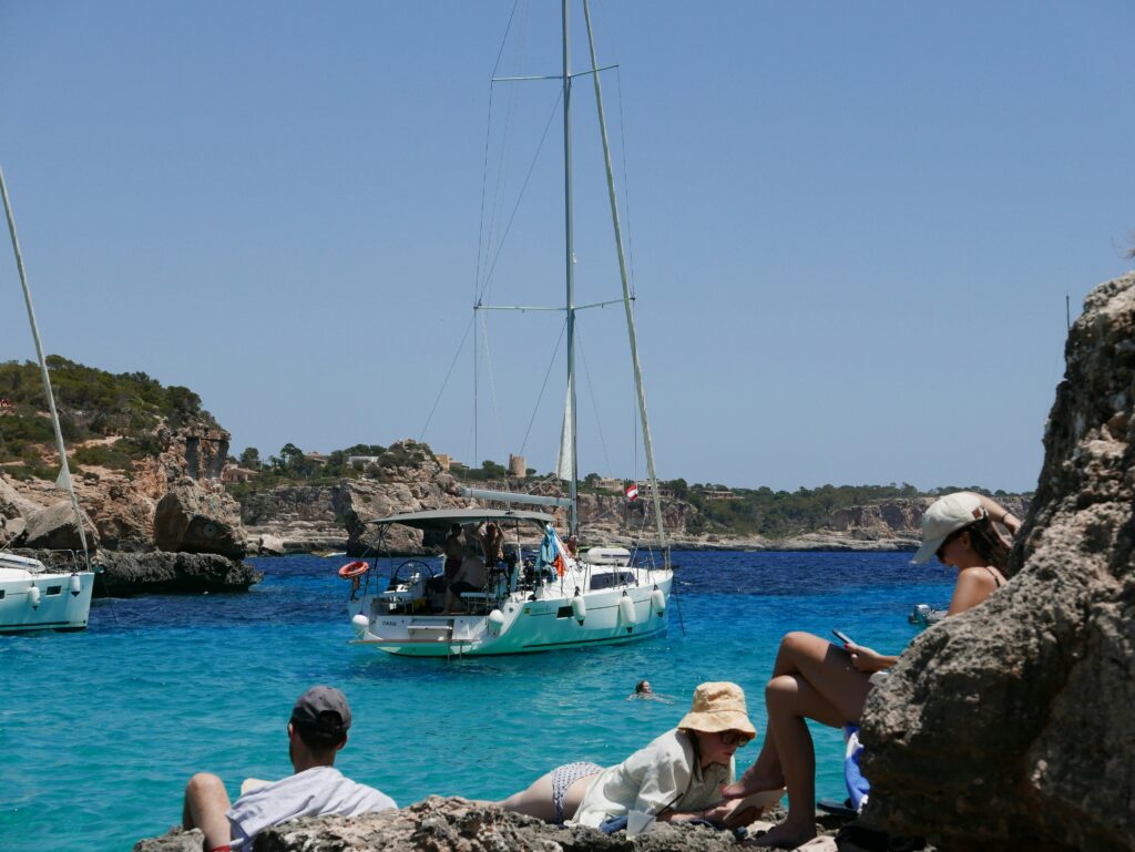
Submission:
<svg viewBox="0 0 1135 852">
<path fill-rule="evenodd" d="M 0 847 L 129 849 L 180 821 L 194 771 L 230 794 L 289 774 L 288 712 L 313 683 L 354 712 L 337 766 L 400 804 L 496 799 L 561 762 L 617 762 L 673 727 L 701 681 L 740 683 L 763 731 L 785 631 L 840 627 L 896 652 L 916 633 L 911 606 L 949 598 L 950 575 L 908 559 L 680 552 L 665 639 L 451 661 L 348 646 L 346 584 L 318 557 L 251 560 L 267 576 L 247 594 L 95 601 L 85 633 L 0 636 Z M 678 702 L 627 701 L 642 677 Z M 840 734 L 814 731 L 818 794 L 842 799 Z M 739 770 L 755 757 L 738 752 Z"/>
</svg>

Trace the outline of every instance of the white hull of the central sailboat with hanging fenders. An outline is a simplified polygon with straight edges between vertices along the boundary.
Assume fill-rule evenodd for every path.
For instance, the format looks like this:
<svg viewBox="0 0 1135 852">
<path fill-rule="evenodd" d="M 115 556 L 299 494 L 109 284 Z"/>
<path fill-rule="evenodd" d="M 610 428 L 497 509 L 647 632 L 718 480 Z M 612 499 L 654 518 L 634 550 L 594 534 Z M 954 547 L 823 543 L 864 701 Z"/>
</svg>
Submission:
<svg viewBox="0 0 1135 852">
<path fill-rule="evenodd" d="M 499 626 L 491 623 L 489 613 L 390 615 L 378 611 L 380 596 L 363 598 L 353 622 L 358 634 L 354 642 L 406 657 L 452 657 L 537 653 L 665 635 L 673 574 L 662 570 L 636 573 L 640 575 L 638 585 L 582 593 L 582 623 L 572 608 L 574 590 L 556 593 L 556 584 L 549 584 L 537 600 L 530 600 L 528 592 L 514 592 L 499 600 L 495 607 L 503 616 Z M 662 592 L 662 607 L 653 596 L 656 588 Z M 629 606 L 621 605 L 624 593 Z"/>
</svg>

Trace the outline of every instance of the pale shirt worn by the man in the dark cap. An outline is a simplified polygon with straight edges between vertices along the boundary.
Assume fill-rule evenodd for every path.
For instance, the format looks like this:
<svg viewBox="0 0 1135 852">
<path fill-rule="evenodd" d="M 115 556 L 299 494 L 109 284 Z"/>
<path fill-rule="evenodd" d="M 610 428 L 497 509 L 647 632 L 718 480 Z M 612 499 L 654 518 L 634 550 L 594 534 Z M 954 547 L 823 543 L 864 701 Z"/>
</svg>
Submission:
<svg viewBox="0 0 1135 852">
<path fill-rule="evenodd" d="M 356 784 L 335 767 L 317 766 L 245 793 L 226 816 L 237 849 L 251 847 L 247 841 L 260 832 L 297 817 L 353 817 L 397 807 L 390 796 Z"/>
</svg>

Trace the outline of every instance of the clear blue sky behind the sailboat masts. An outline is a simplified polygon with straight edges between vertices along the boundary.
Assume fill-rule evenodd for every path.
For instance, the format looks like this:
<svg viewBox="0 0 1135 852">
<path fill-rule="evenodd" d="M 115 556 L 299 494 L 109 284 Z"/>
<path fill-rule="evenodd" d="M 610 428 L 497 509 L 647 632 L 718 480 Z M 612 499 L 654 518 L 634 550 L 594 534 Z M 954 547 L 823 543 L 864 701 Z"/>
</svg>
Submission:
<svg viewBox="0 0 1135 852">
<path fill-rule="evenodd" d="M 512 9 L 0 2 L 0 165 L 48 351 L 193 388 L 234 450 L 420 437 L 469 324 Z M 1075 315 L 1132 265 L 1135 6 L 594 14 L 600 64 L 620 64 L 604 94 L 659 475 L 1033 488 L 1065 296 Z M 556 73 L 557 18 L 522 2 L 498 73 Z M 496 87 L 497 236 L 556 95 Z M 583 78 L 582 302 L 617 295 L 592 103 Z M 487 302 L 562 301 L 558 134 Z M 2 256 L 0 360 L 32 358 Z M 641 473 L 620 310 L 580 328 L 582 472 Z M 560 320 L 493 314 L 488 332 L 479 455 L 549 470 L 560 362 L 537 398 Z M 466 462 L 471 346 L 424 433 Z"/>
</svg>

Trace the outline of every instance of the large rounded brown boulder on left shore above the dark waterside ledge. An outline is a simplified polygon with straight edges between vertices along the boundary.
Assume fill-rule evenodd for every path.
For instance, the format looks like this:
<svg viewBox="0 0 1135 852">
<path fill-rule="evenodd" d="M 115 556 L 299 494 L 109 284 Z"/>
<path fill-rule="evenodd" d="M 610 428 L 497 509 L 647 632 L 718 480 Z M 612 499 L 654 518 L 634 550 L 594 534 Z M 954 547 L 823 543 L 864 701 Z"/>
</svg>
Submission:
<svg viewBox="0 0 1135 852">
<path fill-rule="evenodd" d="M 216 481 L 170 484 L 154 509 L 153 539 L 162 550 L 244 556 L 239 506 Z"/>
</svg>

